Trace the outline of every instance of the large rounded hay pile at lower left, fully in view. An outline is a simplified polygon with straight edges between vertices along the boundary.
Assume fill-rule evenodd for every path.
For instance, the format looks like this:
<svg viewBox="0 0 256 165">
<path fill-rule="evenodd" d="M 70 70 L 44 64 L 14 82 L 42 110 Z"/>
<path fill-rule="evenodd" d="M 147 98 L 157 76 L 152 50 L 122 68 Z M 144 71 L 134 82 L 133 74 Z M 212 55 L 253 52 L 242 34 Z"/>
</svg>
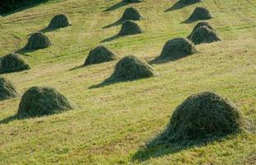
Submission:
<svg viewBox="0 0 256 165">
<path fill-rule="evenodd" d="M 50 115 L 70 109 L 71 103 L 55 88 L 31 87 L 21 97 L 17 115 Z"/>
</svg>

